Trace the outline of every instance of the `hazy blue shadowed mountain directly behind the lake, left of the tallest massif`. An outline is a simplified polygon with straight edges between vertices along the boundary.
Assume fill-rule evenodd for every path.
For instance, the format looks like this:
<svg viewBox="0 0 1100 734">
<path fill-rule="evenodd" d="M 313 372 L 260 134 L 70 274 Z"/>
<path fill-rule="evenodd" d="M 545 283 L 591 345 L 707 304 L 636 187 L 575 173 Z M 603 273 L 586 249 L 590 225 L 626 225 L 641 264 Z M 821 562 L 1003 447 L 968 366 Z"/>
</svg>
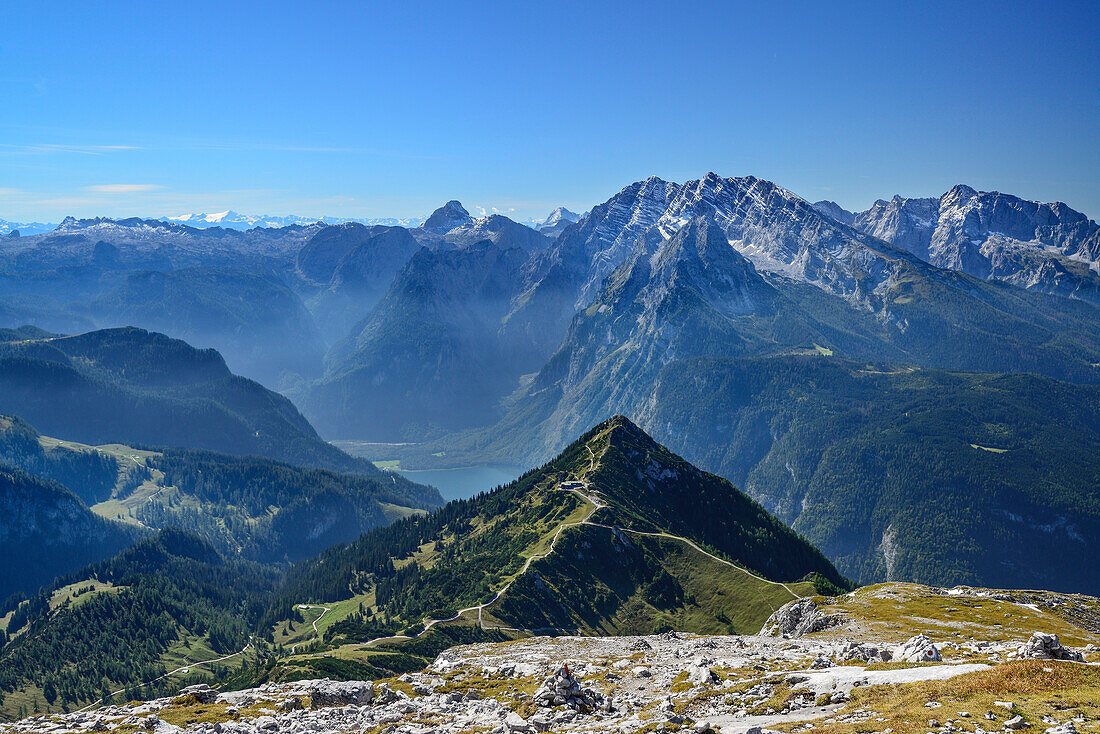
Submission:
<svg viewBox="0 0 1100 734">
<path fill-rule="evenodd" d="M 506 324 L 528 253 L 482 241 L 421 249 L 337 344 L 306 412 L 331 436 L 422 435 L 484 424 L 544 348 Z"/>
</svg>

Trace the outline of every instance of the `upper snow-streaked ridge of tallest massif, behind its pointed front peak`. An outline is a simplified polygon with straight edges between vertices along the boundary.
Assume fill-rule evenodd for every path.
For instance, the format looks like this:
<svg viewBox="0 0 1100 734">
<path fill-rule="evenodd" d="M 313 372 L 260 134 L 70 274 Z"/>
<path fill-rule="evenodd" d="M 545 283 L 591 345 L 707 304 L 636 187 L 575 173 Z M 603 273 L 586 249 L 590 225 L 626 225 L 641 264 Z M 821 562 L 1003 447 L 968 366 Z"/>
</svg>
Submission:
<svg viewBox="0 0 1100 734">
<path fill-rule="evenodd" d="M 1027 336 L 1062 331 L 1072 321 L 1084 328 L 1075 339 L 1094 348 L 1091 317 L 1077 306 L 932 266 L 754 177 L 708 174 L 683 185 L 650 178 L 595 207 L 532 267 L 529 302 L 553 286 L 554 298 L 544 303 L 554 304 L 557 311 L 546 309 L 546 330 L 564 333 L 571 320 L 569 296 L 574 313 L 586 309 L 615 269 L 638 253 L 656 251 L 698 216 L 714 221 L 758 273 L 789 294 L 798 310 L 825 325 L 831 348 L 868 359 L 968 370 L 1019 370 L 1027 361 L 1028 371 L 1082 382 L 1096 379 L 1084 363 L 1069 366 L 1043 347 L 1049 346 L 1045 338 L 1033 341 Z M 1009 351 L 1009 344 L 1021 339 L 1048 351 L 1044 364 Z M 970 347 L 964 348 L 967 340 Z"/>
</svg>

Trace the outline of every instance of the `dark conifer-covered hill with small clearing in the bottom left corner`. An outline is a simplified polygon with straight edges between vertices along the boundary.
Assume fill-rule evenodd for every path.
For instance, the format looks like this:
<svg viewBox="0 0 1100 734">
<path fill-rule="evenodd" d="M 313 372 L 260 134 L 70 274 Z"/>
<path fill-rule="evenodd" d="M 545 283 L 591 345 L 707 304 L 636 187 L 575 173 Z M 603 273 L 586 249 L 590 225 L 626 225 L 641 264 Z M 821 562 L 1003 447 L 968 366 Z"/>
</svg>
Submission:
<svg viewBox="0 0 1100 734">
<path fill-rule="evenodd" d="M 6 617 L 0 713 L 133 700 L 165 690 L 143 683 L 205 660 L 240 667 L 234 654 L 249 651 L 276 582 L 275 571 L 175 529 L 59 579 Z"/>
</svg>

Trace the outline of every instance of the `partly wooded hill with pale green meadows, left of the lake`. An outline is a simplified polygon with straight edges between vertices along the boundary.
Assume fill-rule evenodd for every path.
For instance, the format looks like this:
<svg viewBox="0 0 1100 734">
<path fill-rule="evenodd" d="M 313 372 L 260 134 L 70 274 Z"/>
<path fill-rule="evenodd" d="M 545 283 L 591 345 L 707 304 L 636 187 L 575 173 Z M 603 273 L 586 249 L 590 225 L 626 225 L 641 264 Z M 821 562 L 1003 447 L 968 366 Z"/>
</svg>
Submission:
<svg viewBox="0 0 1100 734">
<path fill-rule="evenodd" d="M 389 474 L 338 474 L 195 449 L 90 447 L 2 416 L 0 462 L 64 484 L 101 517 L 127 523 L 129 537 L 177 527 L 227 557 L 265 563 L 301 560 L 439 504 L 428 487 L 398 484 Z M 91 560 L 73 554 L 40 582 Z"/>
</svg>

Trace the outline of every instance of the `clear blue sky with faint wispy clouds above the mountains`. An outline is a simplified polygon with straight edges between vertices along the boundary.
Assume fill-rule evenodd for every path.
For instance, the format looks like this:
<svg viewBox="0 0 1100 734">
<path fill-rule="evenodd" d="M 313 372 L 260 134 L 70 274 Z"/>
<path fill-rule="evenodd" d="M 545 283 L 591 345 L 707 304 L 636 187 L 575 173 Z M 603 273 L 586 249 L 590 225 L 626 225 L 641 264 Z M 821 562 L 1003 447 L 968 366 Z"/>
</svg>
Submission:
<svg viewBox="0 0 1100 734">
<path fill-rule="evenodd" d="M 517 219 L 707 171 L 865 208 L 1100 217 L 1100 10 L 1065 3 L 20 2 L 0 218 Z"/>
</svg>

